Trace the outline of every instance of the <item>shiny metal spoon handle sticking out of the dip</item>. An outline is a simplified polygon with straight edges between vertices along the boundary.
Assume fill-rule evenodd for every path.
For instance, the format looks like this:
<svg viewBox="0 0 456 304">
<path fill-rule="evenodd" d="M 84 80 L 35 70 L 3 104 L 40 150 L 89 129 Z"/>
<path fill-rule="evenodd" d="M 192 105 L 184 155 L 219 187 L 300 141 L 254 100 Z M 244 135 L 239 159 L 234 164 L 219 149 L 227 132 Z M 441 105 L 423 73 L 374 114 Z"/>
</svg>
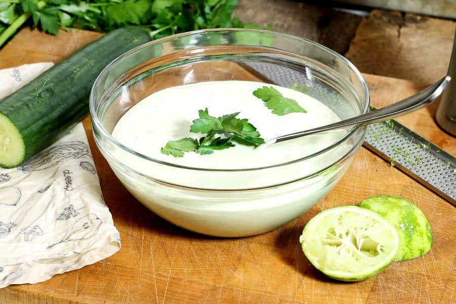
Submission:
<svg viewBox="0 0 456 304">
<path fill-rule="evenodd" d="M 433 102 L 443 92 L 443 89 L 445 89 L 446 85 L 449 83 L 450 80 L 451 78 L 449 76 L 446 76 L 438 82 L 436 82 L 435 84 L 433 84 L 432 86 L 424 89 L 420 93 L 407 97 L 401 101 L 395 102 L 381 109 L 377 109 L 366 114 L 349 118 L 337 123 L 329 124 L 326 126 L 291 133 L 287 135 L 282 135 L 268 140 L 267 143 L 273 144 L 276 142 L 294 139 L 315 133 L 325 132 L 329 130 L 345 129 L 352 126 L 360 127 L 386 121 L 390 118 L 403 115 L 410 111 L 421 108 L 427 103 Z"/>
</svg>

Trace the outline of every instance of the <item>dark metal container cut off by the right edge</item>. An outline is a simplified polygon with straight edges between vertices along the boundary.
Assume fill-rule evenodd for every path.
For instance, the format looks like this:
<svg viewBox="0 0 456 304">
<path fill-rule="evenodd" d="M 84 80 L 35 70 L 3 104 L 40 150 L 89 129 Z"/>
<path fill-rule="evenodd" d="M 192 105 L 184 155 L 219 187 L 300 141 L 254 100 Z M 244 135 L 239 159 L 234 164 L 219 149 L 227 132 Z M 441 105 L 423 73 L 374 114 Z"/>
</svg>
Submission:
<svg viewBox="0 0 456 304">
<path fill-rule="evenodd" d="M 456 136 L 456 32 L 454 34 L 448 75 L 451 76 L 451 81 L 440 99 L 436 120 L 442 129 Z"/>
</svg>

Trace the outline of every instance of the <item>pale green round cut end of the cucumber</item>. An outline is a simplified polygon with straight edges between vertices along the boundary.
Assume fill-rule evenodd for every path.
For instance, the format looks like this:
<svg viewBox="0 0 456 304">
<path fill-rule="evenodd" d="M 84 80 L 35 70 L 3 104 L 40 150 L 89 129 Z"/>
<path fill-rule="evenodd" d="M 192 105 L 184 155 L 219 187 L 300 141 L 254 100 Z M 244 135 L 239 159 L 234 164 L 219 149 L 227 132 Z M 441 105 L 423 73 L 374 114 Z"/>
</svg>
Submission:
<svg viewBox="0 0 456 304">
<path fill-rule="evenodd" d="M 14 123 L 0 112 L 0 166 L 19 166 L 25 157 L 25 145 Z"/>
</svg>

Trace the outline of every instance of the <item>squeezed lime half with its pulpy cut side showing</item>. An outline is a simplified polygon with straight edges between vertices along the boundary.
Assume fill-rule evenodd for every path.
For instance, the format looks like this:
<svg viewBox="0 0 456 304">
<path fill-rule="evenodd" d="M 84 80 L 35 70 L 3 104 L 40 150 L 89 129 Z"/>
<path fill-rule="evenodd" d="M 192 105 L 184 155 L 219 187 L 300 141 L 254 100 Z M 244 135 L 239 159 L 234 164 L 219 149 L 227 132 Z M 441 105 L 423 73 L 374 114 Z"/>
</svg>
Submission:
<svg viewBox="0 0 456 304">
<path fill-rule="evenodd" d="M 387 267 L 397 254 L 396 229 L 377 213 L 356 206 L 326 209 L 299 238 L 319 271 L 341 281 L 361 281 Z"/>
</svg>

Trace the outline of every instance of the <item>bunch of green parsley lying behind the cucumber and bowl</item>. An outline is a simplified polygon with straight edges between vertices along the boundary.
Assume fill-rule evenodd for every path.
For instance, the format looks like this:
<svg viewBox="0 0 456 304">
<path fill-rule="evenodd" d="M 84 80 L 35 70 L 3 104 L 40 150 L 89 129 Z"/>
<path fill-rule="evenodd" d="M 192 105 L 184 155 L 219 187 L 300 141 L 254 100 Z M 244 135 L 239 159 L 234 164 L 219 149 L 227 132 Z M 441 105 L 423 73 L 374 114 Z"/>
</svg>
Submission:
<svg viewBox="0 0 456 304">
<path fill-rule="evenodd" d="M 30 22 L 50 34 L 59 27 L 107 32 L 125 25 L 150 29 L 154 38 L 244 25 L 231 14 L 238 0 L 0 0 L 0 47 Z M 31 17 L 31 18 L 30 18 Z"/>
</svg>

